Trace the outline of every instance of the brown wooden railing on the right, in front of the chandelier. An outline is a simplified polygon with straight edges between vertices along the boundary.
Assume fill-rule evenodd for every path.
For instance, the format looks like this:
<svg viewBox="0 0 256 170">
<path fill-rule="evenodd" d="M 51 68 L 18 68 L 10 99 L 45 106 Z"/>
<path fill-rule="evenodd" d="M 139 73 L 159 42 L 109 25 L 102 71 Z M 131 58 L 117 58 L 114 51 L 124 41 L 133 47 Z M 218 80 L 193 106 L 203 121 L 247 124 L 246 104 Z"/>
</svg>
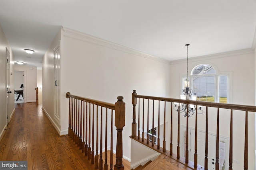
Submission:
<svg viewBox="0 0 256 170">
<path fill-rule="evenodd" d="M 150 101 L 150 102 L 149 102 Z M 161 113 L 160 117 L 160 101 L 163 103 L 161 104 L 164 108 L 161 108 L 161 111 L 164 113 Z M 136 108 L 138 102 L 138 108 Z M 214 107 L 217 108 L 217 113 L 211 112 L 211 114 L 217 114 L 217 122 L 216 122 L 216 159 L 215 159 L 215 169 L 219 170 L 219 137 L 220 137 L 220 125 L 219 125 L 219 119 L 220 119 L 220 109 L 225 109 L 230 111 L 230 145 L 229 145 L 229 160 L 228 163 L 226 163 L 226 166 L 229 166 L 229 170 L 232 170 L 232 164 L 233 164 L 233 110 L 239 110 L 244 113 L 245 117 L 245 135 L 244 135 L 244 170 L 248 170 L 248 112 L 256 112 L 256 106 L 245 106 L 245 105 L 237 105 L 237 104 L 222 104 L 222 103 L 213 103 L 213 102 L 200 102 L 200 101 L 192 101 L 192 100 L 181 100 L 181 99 L 174 99 L 174 98 L 161 98 L 161 97 L 153 97 L 153 96 L 142 96 L 138 95 L 136 93 L 136 90 L 133 90 L 132 93 L 132 106 L 133 106 L 133 115 L 132 115 L 132 135 L 130 138 L 146 145 L 147 147 L 150 147 L 151 149 L 154 149 L 160 153 L 169 155 L 170 157 L 179 160 L 179 162 L 186 164 L 190 168 L 197 168 L 198 167 L 198 154 L 197 154 L 197 133 L 198 133 L 198 114 L 196 112 L 195 115 L 195 150 L 194 150 L 194 162 L 191 162 L 188 160 L 188 122 L 189 117 L 186 116 L 186 156 L 185 160 L 184 158 L 180 157 L 180 109 L 174 110 L 174 102 L 176 105 L 185 104 L 187 105 L 186 108 L 188 108 L 188 105 L 192 104 L 195 105 L 195 109 L 197 110 L 198 107 L 205 107 L 206 112 L 206 129 L 205 129 L 205 158 L 204 158 L 204 169 L 208 169 L 208 107 Z M 142 104 L 141 104 L 142 103 Z M 169 103 L 170 113 L 166 113 L 166 105 Z M 152 104 L 152 105 L 150 105 Z M 154 107 L 157 107 L 157 109 L 154 109 Z M 146 107 L 146 108 L 144 108 Z M 151 109 L 151 110 L 150 110 Z M 157 110 L 157 111 L 156 111 Z M 136 111 L 138 113 L 136 114 Z M 178 114 L 178 120 L 173 119 L 173 112 L 175 111 L 175 114 Z M 177 112 L 178 111 L 178 112 Z M 158 112 L 158 113 L 155 113 Z M 226 111 L 225 111 L 226 113 Z M 157 114 L 157 115 L 156 115 Z M 166 150 L 166 114 L 170 114 L 170 150 Z M 151 124 L 149 123 L 149 117 L 152 117 Z M 138 122 L 136 122 L 136 118 L 138 118 Z M 157 119 L 157 125 L 155 125 L 154 119 Z M 163 136 L 163 147 L 160 147 L 160 119 L 164 123 L 163 131 L 161 132 L 161 136 Z M 178 122 L 177 129 L 177 138 L 178 141 L 174 142 L 172 140 L 174 135 L 174 127 L 173 124 L 175 122 Z M 138 125 L 137 125 L 138 123 Z M 147 127 L 145 129 L 144 127 Z M 150 129 L 154 129 L 155 127 L 158 127 L 158 132 L 156 132 L 157 139 L 154 139 L 154 136 L 152 136 L 152 139 L 150 140 L 149 131 Z M 141 133 L 142 130 L 142 133 Z M 145 136 L 145 132 L 147 133 Z M 176 134 L 175 134 L 176 135 Z M 154 144 L 154 141 L 156 141 L 156 144 Z M 177 153 L 173 153 L 173 145 L 174 143 L 177 144 Z M 191 152 L 193 152 L 191 150 Z"/>
</svg>

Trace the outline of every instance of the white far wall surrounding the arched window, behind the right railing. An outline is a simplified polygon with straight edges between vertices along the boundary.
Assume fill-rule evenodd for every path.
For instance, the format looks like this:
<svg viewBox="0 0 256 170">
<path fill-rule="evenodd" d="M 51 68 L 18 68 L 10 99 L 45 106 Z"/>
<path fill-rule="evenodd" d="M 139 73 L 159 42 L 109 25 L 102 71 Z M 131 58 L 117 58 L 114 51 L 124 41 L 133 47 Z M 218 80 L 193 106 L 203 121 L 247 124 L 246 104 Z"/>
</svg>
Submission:
<svg viewBox="0 0 256 170">
<path fill-rule="evenodd" d="M 219 55 L 211 55 L 204 57 L 190 58 L 188 63 L 189 72 L 198 64 L 212 64 L 216 66 L 220 73 L 231 72 L 232 83 L 230 93 L 232 94 L 231 101 L 233 104 L 252 105 L 255 104 L 255 59 L 254 51 L 243 50 L 230 53 L 224 53 Z M 184 69 L 181 69 L 184 68 Z M 181 94 L 181 77 L 186 75 L 186 61 L 174 61 L 171 62 L 170 68 L 170 96 L 171 98 L 179 98 Z M 174 112 L 175 113 L 175 112 Z M 209 125 L 209 133 L 216 134 L 216 109 L 209 110 L 208 119 L 212 123 Z M 242 169 L 244 162 L 244 125 L 245 125 L 245 114 L 234 111 L 233 121 L 233 158 L 240 161 L 240 164 L 233 163 L 233 167 Z M 177 114 L 174 114 L 174 120 L 177 120 Z M 248 114 L 248 162 L 249 167 L 254 167 L 254 124 L 255 124 L 254 113 Z M 198 129 L 205 131 L 205 114 L 198 115 Z M 186 118 L 181 116 L 181 124 L 186 125 Z M 194 117 L 191 117 L 189 126 L 194 126 Z M 229 137 L 229 126 L 230 126 L 230 112 L 220 111 L 220 135 Z M 177 127 L 176 124 L 174 127 Z M 177 138 L 177 137 L 176 137 Z M 177 141 L 177 139 L 174 139 Z M 175 149 L 175 147 L 174 147 Z M 176 151 L 175 151 L 176 152 Z M 249 168 L 249 169 L 250 169 Z"/>
</svg>

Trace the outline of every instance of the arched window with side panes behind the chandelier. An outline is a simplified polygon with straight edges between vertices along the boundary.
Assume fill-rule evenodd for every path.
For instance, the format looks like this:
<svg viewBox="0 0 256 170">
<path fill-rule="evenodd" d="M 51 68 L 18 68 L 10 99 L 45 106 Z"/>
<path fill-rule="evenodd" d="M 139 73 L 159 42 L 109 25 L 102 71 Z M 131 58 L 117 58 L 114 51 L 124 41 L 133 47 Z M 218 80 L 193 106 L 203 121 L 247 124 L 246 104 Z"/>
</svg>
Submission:
<svg viewBox="0 0 256 170">
<path fill-rule="evenodd" d="M 186 77 L 183 82 L 184 88 Z M 198 101 L 228 103 L 228 74 L 218 74 L 210 64 L 194 67 L 188 77 L 188 84 Z"/>
</svg>

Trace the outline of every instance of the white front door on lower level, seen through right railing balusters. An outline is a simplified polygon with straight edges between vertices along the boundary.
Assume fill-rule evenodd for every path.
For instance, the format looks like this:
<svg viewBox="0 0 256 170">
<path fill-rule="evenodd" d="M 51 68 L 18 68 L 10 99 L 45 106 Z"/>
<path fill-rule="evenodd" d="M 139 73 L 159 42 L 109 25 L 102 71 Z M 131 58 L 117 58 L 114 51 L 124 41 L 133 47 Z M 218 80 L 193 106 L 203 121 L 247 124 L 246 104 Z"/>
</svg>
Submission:
<svg viewBox="0 0 256 170">
<path fill-rule="evenodd" d="M 195 130 L 190 129 L 190 160 L 194 162 Z M 198 164 L 204 167 L 205 158 L 205 132 L 197 131 Z M 208 169 L 215 170 L 216 162 L 216 136 L 208 133 Z"/>
</svg>

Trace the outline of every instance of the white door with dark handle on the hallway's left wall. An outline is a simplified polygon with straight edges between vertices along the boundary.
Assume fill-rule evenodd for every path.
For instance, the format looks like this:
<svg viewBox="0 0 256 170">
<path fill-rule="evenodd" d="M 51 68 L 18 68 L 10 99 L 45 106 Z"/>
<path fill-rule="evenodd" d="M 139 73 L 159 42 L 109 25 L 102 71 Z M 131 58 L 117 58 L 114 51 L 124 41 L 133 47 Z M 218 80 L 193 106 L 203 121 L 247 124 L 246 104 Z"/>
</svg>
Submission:
<svg viewBox="0 0 256 170">
<path fill-rule="evenodd" d="M 6 48 L 6 124 L 10 122 L 10 53 Z"/>
</svg>

